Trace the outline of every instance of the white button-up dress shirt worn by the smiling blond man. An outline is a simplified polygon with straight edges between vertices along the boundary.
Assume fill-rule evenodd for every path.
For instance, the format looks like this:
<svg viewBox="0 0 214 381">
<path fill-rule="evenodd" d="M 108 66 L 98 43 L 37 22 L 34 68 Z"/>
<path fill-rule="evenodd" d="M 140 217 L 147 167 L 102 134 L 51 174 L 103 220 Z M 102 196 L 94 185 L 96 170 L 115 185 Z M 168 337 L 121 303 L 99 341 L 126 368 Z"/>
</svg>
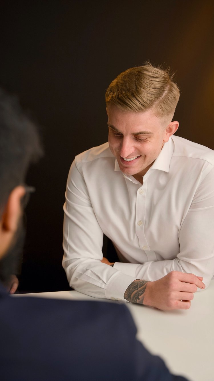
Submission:
<svg viewBox="0 0 214 381">
<path fill-rule="evenodd" d="M 143 177 L 124 175 L 108 143 L 75 157 L 64 204 L 62 265 L 70 286 L 123 298 L 135 279 L 214 274 L 214 151 L 172 136 Z M 103 233 L 120 263 L 101 263 Z"/>
</svg>

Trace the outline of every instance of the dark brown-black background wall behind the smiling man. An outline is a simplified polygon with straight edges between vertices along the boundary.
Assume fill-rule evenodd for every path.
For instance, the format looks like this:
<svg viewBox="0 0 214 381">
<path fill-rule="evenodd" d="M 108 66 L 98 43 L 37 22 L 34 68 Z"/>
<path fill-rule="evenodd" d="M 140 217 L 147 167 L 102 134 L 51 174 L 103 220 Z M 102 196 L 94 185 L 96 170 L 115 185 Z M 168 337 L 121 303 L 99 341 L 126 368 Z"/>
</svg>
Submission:
<svg viewBox="0 0 214 381">
<path fill-rule="evenodd" d="M 64 192 L 78 153 L 107 141 L 105 90 L 129 67 L 170 66 L 181 97 L 178 135 L 214 149 L 214 3 L 5 1 L 0 85 L 40 128 L 45 157 L 31 167 L 20 291 L 69 289 L 62 261 Z"/>
</svg>

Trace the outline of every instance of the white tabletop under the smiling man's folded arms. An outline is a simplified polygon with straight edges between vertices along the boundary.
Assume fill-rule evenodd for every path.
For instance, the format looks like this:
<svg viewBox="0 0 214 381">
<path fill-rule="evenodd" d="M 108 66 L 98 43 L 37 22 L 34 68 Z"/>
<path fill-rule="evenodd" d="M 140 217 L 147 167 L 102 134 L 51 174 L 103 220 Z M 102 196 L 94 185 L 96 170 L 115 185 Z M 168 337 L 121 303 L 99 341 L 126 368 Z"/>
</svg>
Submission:
<svg viewBox="0 0 214 381">
<path fill-rule="evenodd" d="M 16 296 L 106 301 L 77 291 Z M 172 373 L 191 381 L 214 381 L 214 280 L 207 290 L 195 293 L 189 310 L 160 311 L 132 303 L 126 305 L 136 323 L 138 339 L 150 352 L 160 355 Z"/>
</svg>

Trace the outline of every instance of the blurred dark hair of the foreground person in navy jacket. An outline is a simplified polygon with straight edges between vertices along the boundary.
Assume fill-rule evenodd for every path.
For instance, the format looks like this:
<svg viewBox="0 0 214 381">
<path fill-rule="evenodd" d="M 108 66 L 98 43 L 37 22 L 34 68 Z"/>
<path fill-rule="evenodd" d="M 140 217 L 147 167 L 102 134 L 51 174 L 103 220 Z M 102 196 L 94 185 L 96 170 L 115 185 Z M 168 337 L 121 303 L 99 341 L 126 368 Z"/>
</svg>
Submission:
<svg viewBox="0 0 214 381">
<path fill-rule="evenodd" d="M 0 211 L 10 192 L 24 182 L 30 163 L 41 155 L 35 125 L 16 97 L 0 89 Z"/>
</svg>

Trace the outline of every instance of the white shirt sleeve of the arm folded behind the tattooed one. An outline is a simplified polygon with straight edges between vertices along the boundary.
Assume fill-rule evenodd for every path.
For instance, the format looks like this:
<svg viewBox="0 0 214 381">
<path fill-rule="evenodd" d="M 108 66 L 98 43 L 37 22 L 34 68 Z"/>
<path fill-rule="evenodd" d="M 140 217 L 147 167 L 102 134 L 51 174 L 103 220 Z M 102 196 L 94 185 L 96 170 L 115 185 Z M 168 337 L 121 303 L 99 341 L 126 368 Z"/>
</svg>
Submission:
<svg viewBox="0 0 214 381">
<path fill-rule="evenodd" d="M 114 267 L 136 279 L 151 281 L 160 279 L 170 271 L 193 273 L 203 277 L 208 287 L 214 275 L 213 237 L 214 168 L 201 182 L 181 223 L 178 233 L 180 252 L 176 258 L 144 264 L 115 263 Z"/>
</svg>

